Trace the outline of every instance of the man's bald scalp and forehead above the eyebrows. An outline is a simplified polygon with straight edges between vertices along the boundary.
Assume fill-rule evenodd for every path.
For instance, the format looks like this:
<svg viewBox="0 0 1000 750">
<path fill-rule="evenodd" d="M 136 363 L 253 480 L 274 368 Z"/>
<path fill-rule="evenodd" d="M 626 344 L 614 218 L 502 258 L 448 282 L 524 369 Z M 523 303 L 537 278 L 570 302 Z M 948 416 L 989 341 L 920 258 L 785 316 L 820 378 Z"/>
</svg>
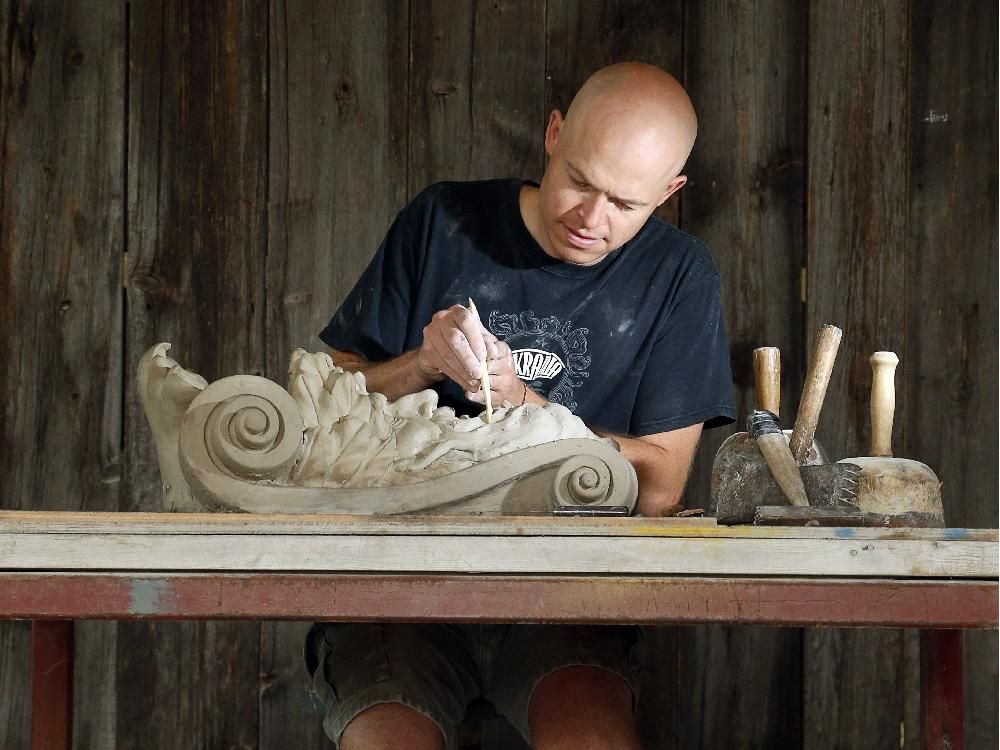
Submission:
<svg viewBox="0 0 1000 750">
<path fill-rule="evenodd" d="M 683 169 L 697 132 L 694 107 L 676 78 L 653 65 L 619 63 L 583 84 L 566 112 L 562 137 L 607 142 L 668 183 Z"/>
</svg>

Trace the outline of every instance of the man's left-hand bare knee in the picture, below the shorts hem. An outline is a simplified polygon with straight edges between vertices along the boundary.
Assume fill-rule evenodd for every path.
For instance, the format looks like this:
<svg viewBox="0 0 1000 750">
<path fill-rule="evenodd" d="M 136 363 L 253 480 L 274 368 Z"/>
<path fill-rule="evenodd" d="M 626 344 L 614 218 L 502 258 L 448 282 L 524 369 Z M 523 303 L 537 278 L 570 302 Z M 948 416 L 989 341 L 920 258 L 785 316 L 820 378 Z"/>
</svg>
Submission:
<svg viewBox="0 0 1000 750">
<path fill-rule="evenodd" d="M 351 719 L 340 736 L 339 747 L 442 750 L 444 742 L 441 728 L 419 711 L 402 703 L 377 703 Z"/>
</svg>

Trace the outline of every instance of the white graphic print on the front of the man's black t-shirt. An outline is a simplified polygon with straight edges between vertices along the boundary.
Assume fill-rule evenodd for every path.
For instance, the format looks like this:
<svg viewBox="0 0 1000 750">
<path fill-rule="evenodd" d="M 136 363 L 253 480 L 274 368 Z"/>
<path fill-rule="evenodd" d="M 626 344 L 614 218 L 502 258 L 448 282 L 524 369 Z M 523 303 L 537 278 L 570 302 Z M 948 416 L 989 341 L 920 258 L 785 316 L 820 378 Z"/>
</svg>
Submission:
<svg viewBox="0 0 1000 750">
<path fill-rule="evenodd" d="M 589 377 L 587 328 L 573 328 L 554 315 L 539 318 L 534 310 L 519 315 L 490 313 L 489 329 L 514 353 L 517 376 L 549 401 L 576 410 L 573 390 Z"/>
</svg>

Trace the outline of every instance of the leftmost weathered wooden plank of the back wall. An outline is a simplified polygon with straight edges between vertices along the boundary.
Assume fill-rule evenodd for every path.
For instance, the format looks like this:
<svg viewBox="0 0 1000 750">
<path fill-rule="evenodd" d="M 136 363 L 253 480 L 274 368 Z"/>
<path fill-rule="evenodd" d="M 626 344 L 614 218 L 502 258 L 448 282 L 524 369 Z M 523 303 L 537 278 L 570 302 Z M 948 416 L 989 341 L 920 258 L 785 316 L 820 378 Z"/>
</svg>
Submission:
<svg viewBox="0 0 1000 750">
<path fill-rule="evenodd" d="M 124 38 L 122 3 L 0 11 L 0 507 L 118 505 Z M 91 673 L 111 671 L 113 650 L 77 647 Z M 27 672 L 13 668 L 27 649 L 23 627 L 0 625 L 3 747 L 28 744 Z M 106 714 L 114 681 L 78 685 L 78 712 Z"/>
</svg>

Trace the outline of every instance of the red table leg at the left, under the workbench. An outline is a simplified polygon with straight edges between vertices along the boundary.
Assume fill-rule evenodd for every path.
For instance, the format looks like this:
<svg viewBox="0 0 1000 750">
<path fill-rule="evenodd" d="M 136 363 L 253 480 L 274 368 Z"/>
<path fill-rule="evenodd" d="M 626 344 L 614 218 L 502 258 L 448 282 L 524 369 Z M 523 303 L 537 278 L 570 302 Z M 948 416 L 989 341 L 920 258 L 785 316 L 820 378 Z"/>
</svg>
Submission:
<svg viewBox="0 0 1000 750">
<path fill-rule="evenodd" d="M 31 750 L 69 750 L 73 735 L 73 621 L 32 621 L 31 651 Z"/>
</svg>

